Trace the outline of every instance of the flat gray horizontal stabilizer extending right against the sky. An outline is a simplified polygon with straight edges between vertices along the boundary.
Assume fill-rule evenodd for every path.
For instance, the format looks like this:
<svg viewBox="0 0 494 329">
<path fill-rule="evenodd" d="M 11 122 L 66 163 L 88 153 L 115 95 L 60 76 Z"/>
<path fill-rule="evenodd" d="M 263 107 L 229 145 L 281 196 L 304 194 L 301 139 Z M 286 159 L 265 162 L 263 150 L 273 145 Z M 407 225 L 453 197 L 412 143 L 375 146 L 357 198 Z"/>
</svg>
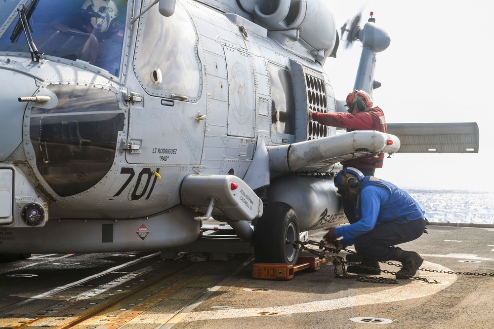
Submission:
<svg viewBox="0 0 494 329">
<path fill-rule="evenodd" d="M 387 133 L 400 139 L 399 153 L 478 153 L 476 122 L 388 123 Z"/>
</svg>

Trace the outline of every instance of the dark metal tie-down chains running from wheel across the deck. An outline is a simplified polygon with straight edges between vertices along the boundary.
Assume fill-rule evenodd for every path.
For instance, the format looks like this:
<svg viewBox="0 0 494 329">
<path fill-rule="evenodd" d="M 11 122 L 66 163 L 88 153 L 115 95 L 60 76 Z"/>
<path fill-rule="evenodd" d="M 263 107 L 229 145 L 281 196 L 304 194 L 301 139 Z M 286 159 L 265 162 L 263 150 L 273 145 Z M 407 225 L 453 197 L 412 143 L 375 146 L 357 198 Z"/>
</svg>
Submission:
<svg viewBox="0 0 494 329">
<path fill-rule="evenodd" d="M 313 240 L 307 240 L 306 242 L 302 241 L 295 241 L 291 242 L 287 240 L 288 244 L 293 245 L 296 249 L 302 248 L 304 251 L 309 252 L 313 255 L 316 255 L 319 257 L 319 259 L 325 258 L 327 261 L 330 261 L 334 265 L 334 276 L 336 278 L 340 279 L 356 279 L 357 281 L 360 282 L 375 282 L 375 283 L 386 283 L 386 284 L 397 284 L 399 281 L 397 279 L 390 279 L 390 278 L 383 278 L 383 277 L 375 277 L 375 276 L 364 276 L 364 275 L 359 275 L 359 274 L 349 274 L 346 272 L 346 267 L 345 264 L 347 262 L 345 259 L 341 256 L 337 255 L 329 255 L 328 253 L 331 254 L 338 254 L 341 250 L 344 250 L 350 254 L 357 254 L 356 252 L 352 250 L 348 250 L 343 248 L 343 244 L 339 240 L 334 240 L 333 243 L 326 243 L 324 240 L 321 240 L 320 242 L 313 241 Z M 317 246 L 319 250 L 315 250 L 312 248 L 306 247 L 306 245 L 313 245 Z M 396 264 L 390 261 L 381 261 L 383 264 L 388 264 L 396 267 L 402 267 L 401 264 Z M 338 272 L 338 266 L 341 265 L 341 270 L 342 273 L 339 274 Z M 375 268 L 369 267 L 362 265 L 360 263 L 358 264 L 353 264 L 353 266 L 358 266 L 364 269 L 370 269 L 374 270 Z M 494 273 L 478 273 L 478 272 L 455 272 L 455 271 L 444 271 L 444 270 L 433 270 L 433 269 L 427 269 L 427 268 L 418 268 L 419 271 L 422 272 L 431 272 L 431 273 L 441 273 L 441 274 L 456 274 L 456 275 L 474 275 L 474 276 L 494 276 Z M 381 269 L 382 273 L 386 274 L 391 274 L 391 275 L 396 275 L 396 272 L 394 271 L 388 271 L 388 270 L 383 270 Z M 418 276 L 409 276 L 410 279 L 418 280 L 418 281 L 423 281 L 425 283 L 430 283 L 430 284 L 439 284 L 437 280 L 433 280 L 434 282 L 430 282 L 426 278 L 421 278 Z"/>
</svg>

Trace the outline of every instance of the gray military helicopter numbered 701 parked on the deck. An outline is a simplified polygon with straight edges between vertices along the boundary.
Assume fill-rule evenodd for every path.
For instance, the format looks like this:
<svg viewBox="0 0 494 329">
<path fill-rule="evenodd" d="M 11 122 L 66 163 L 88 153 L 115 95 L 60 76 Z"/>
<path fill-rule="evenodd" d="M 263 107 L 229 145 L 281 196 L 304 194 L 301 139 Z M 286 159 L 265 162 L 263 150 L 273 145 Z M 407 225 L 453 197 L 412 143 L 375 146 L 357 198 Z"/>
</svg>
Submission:
<svg viewBox="0 0 494 329">
<path fill-rule="evenodd" d="M 360 20 L 342 33 L 372 94 L 390 38 Z M 341 161 L 478 149 L 476 124 L 311 121 L 345 111 L 327 0 L 5 0 L 0 21 L 1 254 L 180 249 L 215 220 L 256 260 L 295 263 L 287 240 L 347 220 Z"/>
</svg>

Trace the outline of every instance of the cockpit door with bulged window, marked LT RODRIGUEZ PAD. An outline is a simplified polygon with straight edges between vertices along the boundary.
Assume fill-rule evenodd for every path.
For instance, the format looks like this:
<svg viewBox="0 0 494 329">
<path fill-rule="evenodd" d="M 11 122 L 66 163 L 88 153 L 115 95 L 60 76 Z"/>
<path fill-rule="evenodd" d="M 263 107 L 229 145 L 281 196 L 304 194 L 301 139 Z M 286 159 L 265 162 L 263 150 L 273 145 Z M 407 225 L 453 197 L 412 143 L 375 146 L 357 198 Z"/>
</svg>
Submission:
<svg viewBox="0 0 494 329">
<path fill-rule="evenodd" d="M 204 121 L 196 118 L 201 111 L 205 114 L 206 105 L 194 22 L 177 3 L 170 17 L 152 7 L 140 25 L 144 29 L 136 44 L 134 73 L 144 90 L 139 94 L 142 102 L 130 102 L 126 143 L 134 148 L 126 151 L 125 159 L 136 164 L 199 165 Z"/>
</svg>

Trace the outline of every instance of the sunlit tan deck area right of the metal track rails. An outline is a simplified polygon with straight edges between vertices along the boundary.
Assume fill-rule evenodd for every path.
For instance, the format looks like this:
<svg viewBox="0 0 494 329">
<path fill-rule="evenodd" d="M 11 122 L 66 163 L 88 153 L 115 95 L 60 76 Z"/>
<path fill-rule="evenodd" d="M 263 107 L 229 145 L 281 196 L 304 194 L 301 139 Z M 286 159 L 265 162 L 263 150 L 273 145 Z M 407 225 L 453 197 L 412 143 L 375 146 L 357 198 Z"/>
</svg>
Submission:
<svg viewBox="0 0 494 329">
<path fill-rule="evenodd" d="M 494 273 L 494 226 L 429 225 L 428 232 L 400 247 L 419 253 L 421 268 L 446 272 L 417 272 L 437 284 L 338 279 L 332 264 L 296 272 L 289 281 L 259 280 L 251 278 L 249 264 L 162 328 L 493 328 L 494 277 L 447 272 Z M 315 231 L 310 239 L 324 233 Z M 160 312 L 159 305 L 153 312 Z M 145 328 L 145 322 L 134 325 Z"/>
</svg>

